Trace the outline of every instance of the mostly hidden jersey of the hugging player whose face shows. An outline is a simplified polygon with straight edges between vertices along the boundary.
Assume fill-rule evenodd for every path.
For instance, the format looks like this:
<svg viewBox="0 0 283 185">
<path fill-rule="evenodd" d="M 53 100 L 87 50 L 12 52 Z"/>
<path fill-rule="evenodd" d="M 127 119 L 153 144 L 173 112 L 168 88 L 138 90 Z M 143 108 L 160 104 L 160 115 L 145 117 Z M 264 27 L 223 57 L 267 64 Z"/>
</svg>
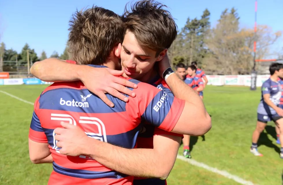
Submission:
<svg viewBox="0 0 283 185">
<path fill-rule="evenodd" d="M 161 78 L 159 75 L 152 80 L 149 84 L 157 87 L 158 89 L 166 91 L 167 95 L 174 96 L 171 92 L 170 88 L 167 86 L 165 80 Z M 153 137 L 155 135 L 173 135 L 183 137 L 182 134 L 176 134 L 173 132 L 167 132 L 162 130 L 154 125 L 145 122 L 142 128 L 142 131 L 139 133 L 137 137 L 137 148 L 153 148 Z M 166 185 L 166 180 L 161 180 L 157 178 L 142 178 L 135 177 L 133 185 Z"/>
</svg>

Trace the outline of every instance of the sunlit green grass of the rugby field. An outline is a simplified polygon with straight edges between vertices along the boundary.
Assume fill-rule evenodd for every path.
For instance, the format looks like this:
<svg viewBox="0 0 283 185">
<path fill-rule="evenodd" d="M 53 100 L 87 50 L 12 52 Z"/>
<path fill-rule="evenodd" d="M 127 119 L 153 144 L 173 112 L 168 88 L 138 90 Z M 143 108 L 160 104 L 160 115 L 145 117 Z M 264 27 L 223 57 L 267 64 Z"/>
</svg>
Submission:
<svg viewBox="0 0 283 185">
<path fill-rule="evenodd" d="M 45 87 L 0 86 L 0 90 L 34 102 Z M 212 115 L 213 126 L 204 138 L 191 138 L 193 159 L 255 184 L 282 184 L 283 160 L 279 158 L 280 146 L 275 143 L 273 123 L 268 123 L 258 143 L 264 156 L 255 157 L 249 151 L 259 99 L 260 89 L 207 86 L 204 103 Z M 47 184 L 52 165 L 32 164 L 29 160 L 28 132 L 33 106 L 1 92 L 0 106 L 0 184 Z M 179 153 L 182 154 L 181 147 Z M 239 184 L 179 159 L 167 182 L 168 185 Z"/>
</svg>

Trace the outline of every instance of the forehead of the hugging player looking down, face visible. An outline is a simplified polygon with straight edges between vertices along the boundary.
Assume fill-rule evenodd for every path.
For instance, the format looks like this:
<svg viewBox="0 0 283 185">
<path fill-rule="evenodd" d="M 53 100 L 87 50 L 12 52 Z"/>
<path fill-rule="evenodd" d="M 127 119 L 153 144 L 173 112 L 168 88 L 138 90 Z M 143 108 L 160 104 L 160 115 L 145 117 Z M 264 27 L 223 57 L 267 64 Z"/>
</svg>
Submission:
<svg viewBox="0 0 283 185">
<path fill-rule="evenodd" d="M 152 49 L 140 46 L 135 34 L 129 30 L 126 30 L 122 46 L 135 55 L 148 55 L 154 57 L 156 54 Z"/>
</svg>

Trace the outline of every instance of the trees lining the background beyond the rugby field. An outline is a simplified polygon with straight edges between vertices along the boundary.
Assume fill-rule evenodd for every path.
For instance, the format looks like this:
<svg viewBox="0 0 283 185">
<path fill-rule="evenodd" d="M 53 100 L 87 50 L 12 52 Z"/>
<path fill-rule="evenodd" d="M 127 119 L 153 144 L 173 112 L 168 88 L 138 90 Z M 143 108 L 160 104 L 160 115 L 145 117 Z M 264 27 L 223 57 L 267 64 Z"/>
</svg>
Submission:
<svg viewBox="0 0 283 185">
<path fill-rule="evenodd" d="M 253 67 L 254 41 L 257 43 L 256 59 L 271 56 L 283 58 L 283 48 L 271 51 L 271 46 L 281 35 L 281 31 L 273 32 L 267 25 L 258 25 L 256 34 L 253 28 L 240 27 L 240 16 L 235 8 L 225 9 L 216 25 L 211 25 L 210 12 L 205 9 L 200 18 L 187 18 L 185 26 L 168 49 L 168 56 L 173 66 L 179 62 L 189 65 L 196 61 L 207 74 L 249 74 Z M 0 60 L 26 64 L 27 50 L 32 63 L 47 58 L 44 51 L 38 57 L 28 44 L 25 44 L 21 53 L 17 53 L 13 49 L 6 49 L 2 42 Z M 50 57 L 70 59 L 68 46 L 60 56 L 54 51 Z M 257 70 L 260 70 L 260 66 L 257 65 Z"/>
</svg>

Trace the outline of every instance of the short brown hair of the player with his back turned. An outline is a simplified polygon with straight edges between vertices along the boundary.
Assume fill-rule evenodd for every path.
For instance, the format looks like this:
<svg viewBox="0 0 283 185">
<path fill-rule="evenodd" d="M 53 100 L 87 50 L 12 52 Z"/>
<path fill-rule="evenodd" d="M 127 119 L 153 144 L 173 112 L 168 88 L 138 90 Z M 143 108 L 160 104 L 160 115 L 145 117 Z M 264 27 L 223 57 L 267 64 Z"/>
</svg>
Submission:
<svg viewBox="0 0 283 185">
<path fill-rule="evenodd" d="M 70 20 L 68 45 L 77 64 L 101 65 L 122 43 L 124 24 L 116 13 L 93 6 L 77 11 Z"/>
</svg>

